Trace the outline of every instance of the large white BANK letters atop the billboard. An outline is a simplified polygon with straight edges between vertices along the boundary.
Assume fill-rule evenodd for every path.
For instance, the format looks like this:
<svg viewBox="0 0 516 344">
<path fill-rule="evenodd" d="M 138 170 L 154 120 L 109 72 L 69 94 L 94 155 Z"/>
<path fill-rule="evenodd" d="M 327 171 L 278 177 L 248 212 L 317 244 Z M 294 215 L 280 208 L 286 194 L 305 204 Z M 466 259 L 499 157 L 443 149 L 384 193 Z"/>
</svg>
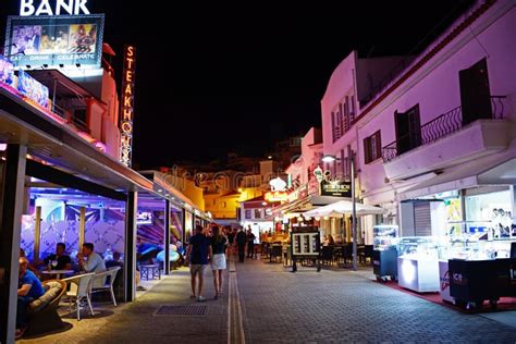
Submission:
<svg viewBox="0 0 516 344">
<path fill-rule="evenodd" d="M 56 0 L 52 1 L 56 5 L 52 8 L 49 0 L 21 0 L 20 15 L 79 15 L 90 14 L 86 3 L 88 0 Z"/>
</svg>

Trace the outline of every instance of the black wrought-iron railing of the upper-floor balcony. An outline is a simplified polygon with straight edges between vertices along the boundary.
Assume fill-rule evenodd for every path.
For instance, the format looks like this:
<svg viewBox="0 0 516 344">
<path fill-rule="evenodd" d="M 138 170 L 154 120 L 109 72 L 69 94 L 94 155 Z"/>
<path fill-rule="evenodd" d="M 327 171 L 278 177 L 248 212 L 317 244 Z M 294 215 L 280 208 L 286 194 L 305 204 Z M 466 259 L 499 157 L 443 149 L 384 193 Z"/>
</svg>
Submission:
<svg viewBox="0 0 516 344">
<path fill-rule="evenodd" d="M 505 96 L 491 96 L 491 119 L 501 120 L 506 116 L 505 106 L 503 103 L 503 99 L 505 98 Z M 463 125 L 462 107 L 450 110 L 449 112 L 445 112 L 432 121 L 421 125 L 421 145 L 419 146 L 428 145 L 439 138 L 453 134 L 460 130 Z M 402 155 L 404 152 L 402 152 Z M 382 148 L 383 162 L 389 162 L 397 156 L 397 142 L 392 142 Z"/>
</svg>

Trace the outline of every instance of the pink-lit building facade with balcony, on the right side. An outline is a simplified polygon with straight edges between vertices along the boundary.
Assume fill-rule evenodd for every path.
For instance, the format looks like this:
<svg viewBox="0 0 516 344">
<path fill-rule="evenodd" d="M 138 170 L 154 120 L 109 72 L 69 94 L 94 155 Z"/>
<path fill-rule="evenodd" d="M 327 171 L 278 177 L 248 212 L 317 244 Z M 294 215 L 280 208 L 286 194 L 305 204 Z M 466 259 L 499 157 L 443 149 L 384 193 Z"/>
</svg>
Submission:
<svg viewBox="0 0 516 344">
<path fill-rule="evenodd" d="M 321 101 L 323 152 L 337 157 L 327 169 L 348 175 L 349 147 L 359 199 L 386 209 L 361 221 L 366 244 L 379 222 L 402 235 L 489 226 L 482 195 L 515 223 L 515 40 L 514 2 L 477 2 L 372 97 L 367 75 L 397 59 L 353 52 L 335 69 Z"/>
</svg>

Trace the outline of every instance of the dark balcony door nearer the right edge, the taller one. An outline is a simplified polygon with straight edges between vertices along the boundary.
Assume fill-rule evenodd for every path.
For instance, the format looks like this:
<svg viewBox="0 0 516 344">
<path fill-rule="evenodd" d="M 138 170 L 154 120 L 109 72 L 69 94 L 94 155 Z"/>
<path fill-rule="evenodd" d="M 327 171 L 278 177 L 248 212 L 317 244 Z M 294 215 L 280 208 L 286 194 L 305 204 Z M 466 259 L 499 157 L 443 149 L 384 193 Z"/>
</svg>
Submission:
<svg viewBox="0 0 516 344">
<path fill-rule="evenodd" d="M 488 62 L 480 60 L 467 70 L 458 72 L 463 124 L 480 119 L 491 119 L 491 93 L 489 90 Z"/>
</svg>

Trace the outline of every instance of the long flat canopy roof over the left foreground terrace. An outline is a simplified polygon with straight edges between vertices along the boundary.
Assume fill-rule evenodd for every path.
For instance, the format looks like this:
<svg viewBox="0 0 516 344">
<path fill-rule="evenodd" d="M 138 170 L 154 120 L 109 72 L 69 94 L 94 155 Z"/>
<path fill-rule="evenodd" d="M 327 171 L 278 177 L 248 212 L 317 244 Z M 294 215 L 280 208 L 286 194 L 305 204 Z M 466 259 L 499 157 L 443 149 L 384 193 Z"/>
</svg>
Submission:
<svg viewBox="0 0 516 344">
<path fill-rule="evenodd" d="M 26 145 L 33 157 L 114 191 L 152 188 L 149 180 L 3 88 L 0 88 L 0 142 Z"/>
</svg>

